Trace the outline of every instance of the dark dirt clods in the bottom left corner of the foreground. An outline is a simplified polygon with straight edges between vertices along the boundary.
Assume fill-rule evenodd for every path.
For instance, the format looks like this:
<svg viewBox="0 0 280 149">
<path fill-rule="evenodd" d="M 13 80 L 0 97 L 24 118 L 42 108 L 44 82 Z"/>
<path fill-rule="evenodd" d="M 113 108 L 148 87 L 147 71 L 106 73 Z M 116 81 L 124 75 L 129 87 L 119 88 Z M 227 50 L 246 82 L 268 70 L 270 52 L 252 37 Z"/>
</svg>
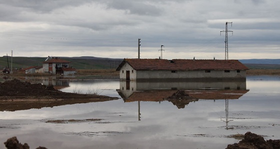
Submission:
<svg viewBox="0 0 280 149">
<path fill-rule="evenodd" d="M 16 136 L 8 138 L 7 141 L 4 142 L 7 149 L 29 149 L 29 145 L 24 143 L 23 145 L 17 140 Z M 36 149 L 47 149 L 45 147 L 37 147 Z"/>
</svg>

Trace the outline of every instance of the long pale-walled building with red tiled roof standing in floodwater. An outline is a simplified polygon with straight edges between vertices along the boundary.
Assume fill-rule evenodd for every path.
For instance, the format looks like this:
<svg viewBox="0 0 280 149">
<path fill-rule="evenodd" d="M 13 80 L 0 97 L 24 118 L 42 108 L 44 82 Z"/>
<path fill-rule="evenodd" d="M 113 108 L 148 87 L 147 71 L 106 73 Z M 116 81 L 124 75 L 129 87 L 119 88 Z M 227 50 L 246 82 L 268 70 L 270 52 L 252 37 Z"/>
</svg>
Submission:
<svg viewBox="0 0 280 149">
<path fill-rule="evenodd" d="M 124 58 L 116 70 L 120 80 L 205 81 L 246 79 L 238 60 Z"/>
</svg>

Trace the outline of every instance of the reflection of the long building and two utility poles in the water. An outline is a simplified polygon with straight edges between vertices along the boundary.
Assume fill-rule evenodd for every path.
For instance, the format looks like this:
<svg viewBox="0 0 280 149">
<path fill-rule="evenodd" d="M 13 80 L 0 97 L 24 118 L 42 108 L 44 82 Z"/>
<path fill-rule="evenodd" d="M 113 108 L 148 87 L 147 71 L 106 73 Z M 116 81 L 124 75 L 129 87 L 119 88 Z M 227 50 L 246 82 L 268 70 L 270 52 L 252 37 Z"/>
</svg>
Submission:
<svg viewBox="0 0 280 149">
<path fill-rule="evenodd" d="M 184 108 L 189 102 L 198 99 L 226 99 L 226 111 L 228 110 L 228 99 L 238 99 L 248 90 L 246 81 L 206 81 L 206 82 L 136 82 L 120 81 L 117 90 L 124 102 L 133 101 L 166 101 L 177 90 L 184 90 L 190 97 L 187 100 L 169 100 L 177 108 Z M 140 108 L 138 102 L 138 108 Z M 140 117 L 140 109 L 138 114 Z M 228 111 L 226 112 L 228 117 Z M 228 119 L 226 118 L 226 124 Z"/>
</svg>

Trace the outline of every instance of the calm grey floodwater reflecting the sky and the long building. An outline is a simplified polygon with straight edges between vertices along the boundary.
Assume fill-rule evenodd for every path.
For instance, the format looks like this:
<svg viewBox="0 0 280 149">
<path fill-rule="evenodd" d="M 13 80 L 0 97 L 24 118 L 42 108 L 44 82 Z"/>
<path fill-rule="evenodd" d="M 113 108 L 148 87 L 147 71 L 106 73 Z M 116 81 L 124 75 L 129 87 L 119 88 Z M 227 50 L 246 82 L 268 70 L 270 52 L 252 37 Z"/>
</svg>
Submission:
<svg viewBox="0 0 280 149">
<path fill-rule="evenodd" d="M 264 135 L 265 139 L 280 139 L 279 76 L 190 84 L 118 80 L 42 83 L 52 83 L 66 92 L 98 93 L 119 99 L 0 111 L 2 142 L 17 136 L 19 142 L 28 143 L 30 148 L 143 149 L 225 148 L 239 141 L 228 135 L 247 131 Z M 183 106 L 163 100 L 162 96 L 171 88 L 189 90 L 189 95 L 196 95 L 198 100 Z M 219 92 L 220 89 L 225 92 Z M 203 96 L 206 93 L 209 95 Z M 100 120 L 88 120 L 95 118 Z"/>
</svg>

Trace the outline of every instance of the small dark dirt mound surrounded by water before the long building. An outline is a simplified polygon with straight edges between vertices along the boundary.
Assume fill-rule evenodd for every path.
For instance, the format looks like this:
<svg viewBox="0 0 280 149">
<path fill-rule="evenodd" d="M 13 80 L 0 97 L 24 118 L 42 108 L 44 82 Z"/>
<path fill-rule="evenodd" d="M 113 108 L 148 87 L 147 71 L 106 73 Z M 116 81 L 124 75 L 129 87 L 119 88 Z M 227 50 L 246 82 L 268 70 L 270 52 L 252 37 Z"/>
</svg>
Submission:
<svg viewBox="0 0 280 149">
<path fill-rule="evenodd" d="M 166 98 L 167 101 L 172 102 L 178 108 L 184 108 L 189 102 L 197 101 L 197 98 L 189 96 L 184 90 L 178 90 L 174 92 L 171 96 Z"/>
</svg>

